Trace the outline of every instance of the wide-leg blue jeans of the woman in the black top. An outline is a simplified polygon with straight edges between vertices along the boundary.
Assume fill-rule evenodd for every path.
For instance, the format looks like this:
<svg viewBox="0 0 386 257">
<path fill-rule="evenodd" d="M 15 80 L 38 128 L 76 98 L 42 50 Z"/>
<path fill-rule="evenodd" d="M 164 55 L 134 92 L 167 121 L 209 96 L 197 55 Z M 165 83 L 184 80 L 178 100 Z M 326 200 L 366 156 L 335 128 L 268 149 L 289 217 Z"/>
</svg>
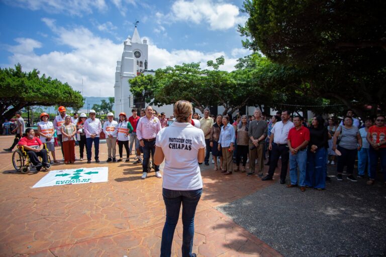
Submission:
<svg viewBox="0 0 386 257">
<path fill-rule="evenodd" d="M 324 147 L 318 149 L 316 153 L 307 154 L 307 172 L 306 185 L 315 188 L 326 187 L 326 149 Z"/>
</svg>

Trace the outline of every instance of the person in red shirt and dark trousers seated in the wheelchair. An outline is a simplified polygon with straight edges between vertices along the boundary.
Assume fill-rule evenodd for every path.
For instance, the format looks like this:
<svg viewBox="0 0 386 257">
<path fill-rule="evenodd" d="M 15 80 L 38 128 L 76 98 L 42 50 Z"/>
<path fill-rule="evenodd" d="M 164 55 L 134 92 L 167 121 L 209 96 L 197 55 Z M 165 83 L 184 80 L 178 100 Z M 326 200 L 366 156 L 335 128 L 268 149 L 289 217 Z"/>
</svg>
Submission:
<svg viewBox="0 0 386 257">
<path fill-rule="evenodd" d="M 51 168 L 51 164 L 48 162 L 47 157 L 48 152 L 46 149 L 43 149 L 43 144 L 40 139 L 35 137 L 34 129 L 28 128 L 26 130 L 26 136 L 19 141 L 18 145 L 23 146 L 37 171 L 40 171 L 42 166 L 47 170 Z M 40 162 L 38 157 L 42 158 L 42 162 Z"/>
</svg>

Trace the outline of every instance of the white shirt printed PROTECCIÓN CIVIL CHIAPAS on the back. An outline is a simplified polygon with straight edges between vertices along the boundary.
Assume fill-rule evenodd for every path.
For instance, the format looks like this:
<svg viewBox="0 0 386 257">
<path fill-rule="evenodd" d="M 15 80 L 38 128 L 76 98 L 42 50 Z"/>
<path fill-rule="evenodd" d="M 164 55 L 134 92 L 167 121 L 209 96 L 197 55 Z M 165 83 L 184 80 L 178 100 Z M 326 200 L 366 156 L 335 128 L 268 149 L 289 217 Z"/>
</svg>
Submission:
<svg viewBox="0 0 386 257">
<path fill-rule="evenodd" d="M 174 121 L 157 134 L 157 147 L 165 155 L 162 187 L 170 190 L 203 188 L 199 150 L 205 148 L 204 132 L 190 123 Z"/>
</svg>

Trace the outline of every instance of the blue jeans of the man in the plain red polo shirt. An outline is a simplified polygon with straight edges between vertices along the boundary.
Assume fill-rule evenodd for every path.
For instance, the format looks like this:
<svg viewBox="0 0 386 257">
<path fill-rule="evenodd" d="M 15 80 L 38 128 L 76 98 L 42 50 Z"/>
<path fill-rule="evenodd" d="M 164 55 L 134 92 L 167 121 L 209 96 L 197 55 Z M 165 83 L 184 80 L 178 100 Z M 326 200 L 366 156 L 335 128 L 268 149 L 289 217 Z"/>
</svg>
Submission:
<svg viewBox="0 0 386 257">
<path fill-rule="evenodd" d="M 289 178 L 291 185 L 298 185 L 298 168 L 299 168 L 299 186 L 306 186 L 306 166 L 307 151 L 299 151 L 296 155 L 289 154 Z"/>
</svg>

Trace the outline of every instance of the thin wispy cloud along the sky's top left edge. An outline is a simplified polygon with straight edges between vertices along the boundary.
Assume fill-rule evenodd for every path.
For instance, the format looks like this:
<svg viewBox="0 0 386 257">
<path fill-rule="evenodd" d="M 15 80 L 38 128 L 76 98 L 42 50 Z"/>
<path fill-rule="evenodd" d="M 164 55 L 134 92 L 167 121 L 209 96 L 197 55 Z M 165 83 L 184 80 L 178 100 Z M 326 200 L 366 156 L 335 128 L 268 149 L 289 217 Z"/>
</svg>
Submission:
<svg viewBox="0 0 386 257">
<path fill-rule="evenodd" d="M 107 9 L 105 0 L 3 0 L 3 2 L 32 11 L 44 10 L 47 13 L 66 13 L 74 16 L 91 14 L 92 9 L 98 9 L 100 12 Z"/>
</svg>

